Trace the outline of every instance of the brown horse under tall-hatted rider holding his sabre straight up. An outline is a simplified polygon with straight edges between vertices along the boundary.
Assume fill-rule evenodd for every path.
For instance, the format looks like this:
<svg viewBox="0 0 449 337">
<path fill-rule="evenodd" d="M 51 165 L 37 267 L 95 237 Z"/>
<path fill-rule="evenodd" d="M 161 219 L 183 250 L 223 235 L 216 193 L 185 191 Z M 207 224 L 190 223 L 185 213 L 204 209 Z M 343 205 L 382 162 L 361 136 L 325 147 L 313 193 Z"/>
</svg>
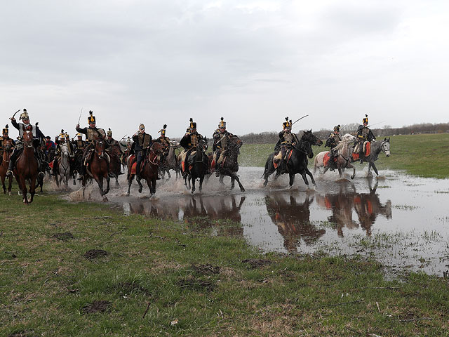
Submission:
<svg viewBox="0 0 449 337">
<path fill-rule="evenodd" d="M 95 148 L 87 154 L 91 158 L 88 160 L 86 171 L 88 174 L 84 176 L 82 181 L 83 197 L 86 190 L 86 181 L 94 178 L 100 188 L 103 201 L 107 201 L 106 194 L 109 192 L 109 155 L 105 151 L 105 143 L 103 140 L 95 140 Z M 106 190 L 103 190 L 103 178 L 107 181 Z"/>
</svg>

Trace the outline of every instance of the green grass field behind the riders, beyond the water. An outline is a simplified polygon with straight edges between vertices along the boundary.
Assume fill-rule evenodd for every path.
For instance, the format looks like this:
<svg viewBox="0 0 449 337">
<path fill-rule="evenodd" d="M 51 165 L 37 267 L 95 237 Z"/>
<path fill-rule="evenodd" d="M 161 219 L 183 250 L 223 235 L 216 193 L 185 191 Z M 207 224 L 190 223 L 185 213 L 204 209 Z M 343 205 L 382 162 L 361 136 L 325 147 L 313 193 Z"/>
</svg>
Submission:
<svg viewBox="0 0 449 337">
<path fill-rule="evenodd" d="M 449 178 L 449 134 L 391 136 L 390 143 L 391 157 L 387 158 L 381 153 L 376 161 L 378 169 L 405 170 L 427 178 Z M 274 144 L 243 145 L 239 157 L 241 165 L 264 166 L 273 148 Z M 328 149 L 314 147 L 314 154 Z M 311 167 L 312 164 L 313 160 L 310 161 Z"/>
</svg>

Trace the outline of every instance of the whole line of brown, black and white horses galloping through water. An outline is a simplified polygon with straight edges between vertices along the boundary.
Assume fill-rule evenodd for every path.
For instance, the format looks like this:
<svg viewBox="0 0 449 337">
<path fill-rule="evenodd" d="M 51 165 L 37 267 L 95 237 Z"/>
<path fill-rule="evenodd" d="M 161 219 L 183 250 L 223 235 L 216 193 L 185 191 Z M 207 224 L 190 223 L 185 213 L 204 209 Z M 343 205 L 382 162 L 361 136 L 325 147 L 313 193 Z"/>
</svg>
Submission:
<svg viewBox="0 0 449 337">
<path fill-rule="evenodd" d="M 355 167 L 351 163 L 356 161 L 353 157 L 354 152 L 354 140 L 355 137 L 350 134 L 343 136 L 342 141 L 337 145 L 336 151 L 336 161 L 335 167 L 340 173 L 340 177 L 344 169 L 353 169 L 351 178 L 355 176 Z M 18 160 L 16 161 L 15 169 L 13 171 L 15 179 L 18 181 L 20 190 L 22 191 L 23 202 L 25 204 L 31 203 L 33 201 L 36 182 L 39 182 L 39 162 L 36 161 L 34 156 L 34 148 L 32 145 L 32 133 L 25 132 L 23 137 L 24 150 Z M 286 165 L 278 166 L 274 163 L 274 156 L 277 151 L 269 154 L 267 161 L 264 166 L 264 173 L 262 177 L 264 178 L 264 186 L 267 186 L 269 176 L 275 173 L 274 179 L 276 180 L 283 173 L 288 173 L 289 185 L 293 186 L 295 181 L 295 175 L 300 174 L 304 183 L 308 186 L 309 181 L 307 176 L 309 176 L 311 183 L 316 186 L 314 176 L 308 169 L 309 159 L 314 158 L 314 152 L 312 146 L 321 146 L 323 141 L 320 140 L 314 133 L 310 131 L 304 131 L 300 140 L 287 152 Z M 147 151 L 147 156 L 142 160 L 142 166 L 140 169 L 140 178 L 147 182 L 149 187 L 150 197 L 156 193 L 156 180 L 158 179 L 158 174 L 160 173 L 162 177 L 165 173 L 168 174 L 168 179 L 170 178 L 170 170 L 175 171 L 176 178 L 178 175 L 182 176 L 185 182 L 185 187 L 191 190 L 192 194 L 196 191 L 196 180 L 199 180 L 199 191 L 201 192 L 203 187 L 203 182 L 210 177 L 213 171 L 218 172 L 219 182 L 224 185 L 223 178 L 229 176 L 231 178 L 231 190 L 234 188 L 235 181 L 239 184 L 241 192 L 245 192 L 239 176 L 239 162 L 238 156 L 240 154 L 240 147 L 242 145 L 241 140 L 238 137 L 234 137 L 229 141 L 229 146 L 227 148 L 227 154 L 225 160 L 222 161 L 220 165 L 211 168 L 212 153 L 208 153 L 208 141 L 207 139 L 202 139 L 199 144 L 192 152 L 192 155 L 187 159 L 185 165 L 185 171 L 182 172 L 180 166 L 180 160 L 177 158 L 175 150 L 180 147 L 177 142 L 170 142 L 168 148 L 166 145 L 161 143 L 153 143 L 152 146 Z M 168 150 L 168 151 L 167 151 Z M 167 155 L 163 155 L 167 153 Z M 374 161 L 377 160 L 380 152 L 384 152 L 387 157 L 390 155 L 389 150 L 389 138 L 385 138 L 382 142 L 373 142 L 370 144 L 370 153 L 363 159 L 368 162 L 368 174 L 370 169 L 373 169 L 378 175 L 377 168 Z M 55 181 L 58 187 L 62 187 L 62 184 L 66 189 L 68 189 L 69 178 L 75 178 L 78 169 L 71 169 L 70 165 L 70 154 L 67 145 L 62 145 L 60 147 L 60 161 L 58 164 L 58 172 L 55 176 Z M 314 159 L 314 173 L 317 170 L 324 174 L 329 169 L 329 164 L 326 162 L 326 156 L 328 157 L 329 152 L 320 152 L 316 155 Z M 3 154 L 3 160 L 0 166 L 0 177 L 2 185 L 4 188 L 4 193 L 6 193 L 5 186 L 5 173 L 8 168 L 9 156 L 11 156 L 11 148 L 6 147 Z M 135 178 L 135 169 L 133 169 L 133 156 L 125 152 L 121 152 L 120 148 L 111 147 L 105 150 L 105 142 L 102 140 L 95 141 L 93 145 L 93 150 L 88 156 L 87 163 L 87 173 L 83 180 L 81 180 L 81 185 L 83 188 L 83 197 L 85 197 L 86 184 L 89 180 L 95 180 L 98 184 L 100 194 L 104 201 L 107 201 L 106 194 L 109 192 L 110 178 L 116 179 L 116 185 L 119 185 L 118 177 L 121 173 L 121 167 L 126 166 L 127 168 L 127 180 L 128 180 L 128 192 L 130 194 L 130 187 Z M 73 159 L 72 159 L 73 160 Z M 78 159 L 79 161 L 79 159 Z M 78 166 L 76 166 L 77 168 Z M 323 171 L 321 171 L 323 169 Z M 106 180 L 106 187 L 104 188 L 104 180 Z M 26 182 L 29 182 L 29 191 L 27 190 Z M 138 183 L 138 190 L 142 192 L 143 185 L 140 180 L 136 180 Z M 9 180 L 8 192 L 11 194 L 11 179 Z M 27 192 L 31 194 L 31 198 L 27 199 Z"/>
</svg>

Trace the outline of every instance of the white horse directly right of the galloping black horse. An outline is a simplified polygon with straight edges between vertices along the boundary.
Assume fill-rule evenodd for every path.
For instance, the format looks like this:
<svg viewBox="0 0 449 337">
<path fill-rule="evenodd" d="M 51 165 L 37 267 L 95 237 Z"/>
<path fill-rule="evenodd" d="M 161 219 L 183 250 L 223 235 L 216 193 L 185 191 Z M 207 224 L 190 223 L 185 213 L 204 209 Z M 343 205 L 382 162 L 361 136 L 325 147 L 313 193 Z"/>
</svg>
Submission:
<svg viewBox="0 0 449 337">
<path fill-rule="evenodd" d="M 354 179 L 354 177 L 356 176 L 356 168 L 354 165 L 351 165 L 351 153 L 354 148 L 353 144 L 355 139 L 356 138 L 354 136 L 347 133 L 342 137 L 342 140 L 335 147 L 335 150 L 337 150 L 338 153 L 338 157 L 335 158 L 335 165 L 337 166 L 340 178 L 342 178 L 342 172 L 344 169 L 354 170 L 351 179 Z M 328 171 L 328 169 L 330 168 L 330 163 L 328 163 L 329 152 L 330 151 L 323 151 L 319 154 L 316 154 L 314 160 L 314 173 L 316 172 L 316 170 L 321 171 L 321 167 L 324 167 L 324 170 L 321 174 L 324 174 L 326 173 L 326 171 Z"/>
</svg>

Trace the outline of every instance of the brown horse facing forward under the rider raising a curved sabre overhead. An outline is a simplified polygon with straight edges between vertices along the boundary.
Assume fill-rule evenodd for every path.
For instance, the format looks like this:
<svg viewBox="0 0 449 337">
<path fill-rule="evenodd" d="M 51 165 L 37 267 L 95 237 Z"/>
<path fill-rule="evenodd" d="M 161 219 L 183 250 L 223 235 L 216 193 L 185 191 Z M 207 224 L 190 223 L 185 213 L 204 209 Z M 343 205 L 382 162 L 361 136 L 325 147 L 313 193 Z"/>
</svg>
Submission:
<svg viewBox="0 0 449 337">
<path fill-rule="evenodd" d="M 13 170 L 15 180 L 22 190 L 22 198 L 25 204 L 31 204 L 34 198 L 34 191 L 36 190 L 36 178 L 39 173 L 39 163 L 34 157 L 33 133 L 32 131 L 25 131 L 23 133 L 23 152 L 15 161 L 15 168 Z M 29 181 L 29 193 L 31 198 L 28 201 L 27 197 L 27 181 Z"/>
</svg>

